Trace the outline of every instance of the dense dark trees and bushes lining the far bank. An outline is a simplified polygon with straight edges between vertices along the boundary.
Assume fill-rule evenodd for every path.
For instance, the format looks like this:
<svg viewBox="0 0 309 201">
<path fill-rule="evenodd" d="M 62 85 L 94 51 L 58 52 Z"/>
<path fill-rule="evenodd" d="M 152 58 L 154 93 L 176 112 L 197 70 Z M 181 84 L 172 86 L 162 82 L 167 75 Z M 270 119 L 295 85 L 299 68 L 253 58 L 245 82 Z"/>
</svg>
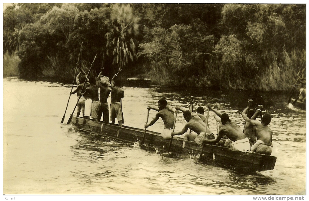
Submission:
<svg viewBox="0 0 309 201">
<path fill-rule="evenodd" d="M 19 3 L 3 50 L 19 75 L 70 83 L 80 46 L 93 74 L 169 86 L 290 90 L 306 67 L 306 4 Z"/>
</svg>

